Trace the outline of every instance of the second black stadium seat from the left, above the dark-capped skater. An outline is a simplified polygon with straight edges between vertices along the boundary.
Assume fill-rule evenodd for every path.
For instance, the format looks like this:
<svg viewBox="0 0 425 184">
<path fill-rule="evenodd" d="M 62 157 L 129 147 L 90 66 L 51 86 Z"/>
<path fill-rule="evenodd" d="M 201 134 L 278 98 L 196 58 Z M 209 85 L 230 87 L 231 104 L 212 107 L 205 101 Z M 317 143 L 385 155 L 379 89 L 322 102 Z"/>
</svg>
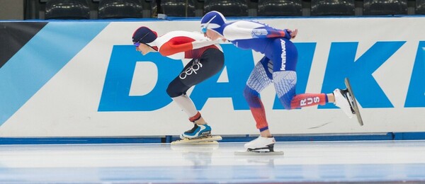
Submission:
<svg viewBox="0 0 425 184">
<path fill-rule="evenodd" d="M 140 0 L 100 0 L 98 18 L 142 18 Z"/>
</svg>

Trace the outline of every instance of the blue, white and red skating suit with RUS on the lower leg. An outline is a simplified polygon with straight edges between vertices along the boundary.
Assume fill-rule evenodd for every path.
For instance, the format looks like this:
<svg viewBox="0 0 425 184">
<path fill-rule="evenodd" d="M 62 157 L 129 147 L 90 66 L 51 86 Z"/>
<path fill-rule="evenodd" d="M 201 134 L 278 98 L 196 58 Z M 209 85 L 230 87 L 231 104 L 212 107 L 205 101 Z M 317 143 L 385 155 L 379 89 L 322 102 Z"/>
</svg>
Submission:
<svg viewBox="0 0 425 184">
<path fill-rule="evenodd" d="M 264 54 L 251 71 L 244 89 L 244 97 L 260 131 L 268 130 L 268 123 L 259 93 L 269 84 L 274 84 L 280 103 L 287 110 L 327 103 L 327 96 L 324 93 L 295 93 L 298 52 L 290 41 L 288 30 L 272 28 L 256 21 L 224 23 L 214 30 L 236 47 Z"/>
</svg>

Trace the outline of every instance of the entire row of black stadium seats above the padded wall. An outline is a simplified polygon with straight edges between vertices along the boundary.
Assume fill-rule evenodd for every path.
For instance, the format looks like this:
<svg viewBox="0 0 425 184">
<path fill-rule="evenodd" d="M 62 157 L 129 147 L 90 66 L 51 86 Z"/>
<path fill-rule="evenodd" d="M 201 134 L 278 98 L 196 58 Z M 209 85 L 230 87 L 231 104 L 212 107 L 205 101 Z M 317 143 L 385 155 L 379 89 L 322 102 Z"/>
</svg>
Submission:
<svg viewBox="0 0 425 184">
<path fill-rule="evenodd" d="M 45 18 L 90 18 L 90 0 L 49 0 Z M 98 0 L 98 18 L 142 18 L 141 0 Z M 196 0 L 195 0 L 196 1 Z M 246 0 L 203 0 L 203 13 L 220 11 L 225 16 L 248 16 Z M 248 0 L 249 1 L 249 0 Z M 157 8 L 156 2 L 151 1 Z M 162 0 L 167 16 L 193 17 L 193 0 Z M 311 16 L 354 16 L 354 0 L 311 0 Z M 407 14 L 407 0 L 364 0 L 363 15 Z M 425 14 L 425 0 L 416 0 L 415 14 Z M 257 16 L 302 16 L 302 0 L 258 0 Z"/>
</svg>

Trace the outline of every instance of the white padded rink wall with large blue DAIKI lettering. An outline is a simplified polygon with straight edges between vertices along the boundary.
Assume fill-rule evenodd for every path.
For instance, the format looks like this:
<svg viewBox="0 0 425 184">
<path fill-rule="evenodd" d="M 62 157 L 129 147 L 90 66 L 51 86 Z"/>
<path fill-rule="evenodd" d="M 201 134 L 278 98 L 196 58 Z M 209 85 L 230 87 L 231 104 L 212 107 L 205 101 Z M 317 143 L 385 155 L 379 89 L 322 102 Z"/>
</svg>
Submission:
<svg viewBox="0 0 425 184">
<path fill-rule="evenodd" d="M 331 93 L 348 77 L 365 122 L 361 127 L 333 104 L 285 110 L 269 86 L 261 98 L 273 134 L 425 138 L 425 17 L 261 21 L 299 30 L 297 93 Z M 164 142 L 190 129 L 165 92 L 188 60 L 137 52 L 131 36 L 142 25 L 159 35 L 199 31 L 199 20 L 0 22 L 0 139 Z M 262 55 L 229 43 L 222 48 L 225 69 L 188 94 L 214 134 L 258 134 L 242 90 Z"/>
</svg>

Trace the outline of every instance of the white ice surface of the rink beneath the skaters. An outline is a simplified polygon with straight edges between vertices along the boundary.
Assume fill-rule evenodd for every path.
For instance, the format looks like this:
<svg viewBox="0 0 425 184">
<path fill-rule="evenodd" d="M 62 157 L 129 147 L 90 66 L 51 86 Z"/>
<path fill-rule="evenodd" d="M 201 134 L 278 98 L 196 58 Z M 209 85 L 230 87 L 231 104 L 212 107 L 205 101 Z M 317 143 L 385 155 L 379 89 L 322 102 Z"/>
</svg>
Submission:
<svg viewBox="0 0 425 184">
<path fill-rule="evenodd" d="M 425 141 L 1 145 L 0 183 L 425 183 Z"/>
</svg>

